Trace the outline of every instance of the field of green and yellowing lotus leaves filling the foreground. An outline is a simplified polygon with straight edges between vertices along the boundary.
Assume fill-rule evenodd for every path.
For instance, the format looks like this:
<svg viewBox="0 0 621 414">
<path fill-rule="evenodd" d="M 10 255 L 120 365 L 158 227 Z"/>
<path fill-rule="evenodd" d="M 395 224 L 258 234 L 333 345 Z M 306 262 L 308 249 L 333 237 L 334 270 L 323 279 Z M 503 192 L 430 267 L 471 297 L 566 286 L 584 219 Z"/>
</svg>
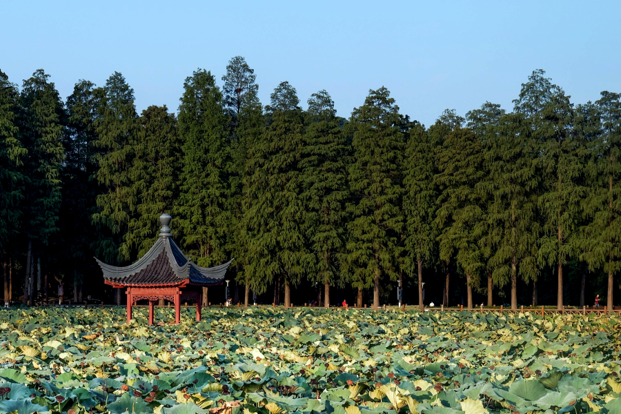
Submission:
<svg viewBox="0 0 621 414">
<path fill-rule="evenodd" d="M 0 413 L 621 413 L 615 315 L 193 313 L 1 311 Z"/>
</svg>

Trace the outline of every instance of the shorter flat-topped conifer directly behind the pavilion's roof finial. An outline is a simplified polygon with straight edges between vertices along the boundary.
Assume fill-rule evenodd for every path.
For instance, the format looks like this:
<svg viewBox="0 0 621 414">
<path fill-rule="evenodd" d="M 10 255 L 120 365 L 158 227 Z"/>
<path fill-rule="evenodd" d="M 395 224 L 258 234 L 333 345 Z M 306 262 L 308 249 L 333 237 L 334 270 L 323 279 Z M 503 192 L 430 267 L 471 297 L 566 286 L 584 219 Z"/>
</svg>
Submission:
<svg viewBox="0 0 621 414">
<path fill-rule="evenodd" d="M 166 106 L 149 106 L 139 119 L 142 132 L 132 165 L 137 216 L 128 224 L 126 243 L 143 256 L 155 243 L 161 213 L 172 211 L 178 196 L 181 145 L 177 119 Z"/>
</svg>

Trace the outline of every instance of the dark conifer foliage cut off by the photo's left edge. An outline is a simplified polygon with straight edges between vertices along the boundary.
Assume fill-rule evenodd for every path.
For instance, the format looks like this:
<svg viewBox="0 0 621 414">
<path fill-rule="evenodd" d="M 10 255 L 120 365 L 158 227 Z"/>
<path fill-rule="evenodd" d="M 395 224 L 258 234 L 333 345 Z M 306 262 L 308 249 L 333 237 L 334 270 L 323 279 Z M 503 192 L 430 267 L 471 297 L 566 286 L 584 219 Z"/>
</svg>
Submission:
<svg viewBox="0 0 621 414">
<path fill-rule="evenodd" d="M 19 92 L 0 71 L 0 248 L 19 233 L 20 201 L 25 177 L 21 171 L 28 150 L 19 135 Z"/>
</svg>

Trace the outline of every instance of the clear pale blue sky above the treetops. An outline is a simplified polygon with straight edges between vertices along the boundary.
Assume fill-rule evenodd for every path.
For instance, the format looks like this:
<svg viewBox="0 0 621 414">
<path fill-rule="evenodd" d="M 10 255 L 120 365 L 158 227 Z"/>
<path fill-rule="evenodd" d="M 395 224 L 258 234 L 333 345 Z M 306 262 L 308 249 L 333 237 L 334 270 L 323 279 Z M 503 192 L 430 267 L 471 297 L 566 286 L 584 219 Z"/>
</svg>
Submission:
<svg viewBox="0 0 621 414">
<path fill-rule="evenodd" d="M 326 89 L 349 117 L 386 86 L 426 126 L 445 108 L 511 110 L 537 68 L 574 103 L 621 92 L 621 1 L 3 1 L 1 13 L 12 82 L 43 68 L 66 99 L 79 79 L 103 86 L 117 70 L 139 111 L 177 112 L 193 70 L 219 80 L 235 55 L 264 104 L 286 80 L 304 108 Z"/>
</svg>

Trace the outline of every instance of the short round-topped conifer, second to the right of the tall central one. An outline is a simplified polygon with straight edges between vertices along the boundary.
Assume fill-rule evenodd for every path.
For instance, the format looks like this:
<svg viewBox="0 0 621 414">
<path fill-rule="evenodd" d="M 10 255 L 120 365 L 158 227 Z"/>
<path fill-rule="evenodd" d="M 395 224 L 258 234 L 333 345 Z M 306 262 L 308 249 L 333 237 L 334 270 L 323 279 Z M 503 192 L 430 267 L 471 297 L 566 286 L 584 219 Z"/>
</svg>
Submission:
<svg viewBox="0 0 621 414">
<path fill-rule="evenodd" d="M 485 197 L 477 184 L 483 179 L 482 146 L 468 128 L 457 126 L 444 140 L 438 153 L 439 174 L 435 182 L 440 190 L 437 210 L 438 228 L 442 231 L 440 259 L 455 258 L 466 275 L 468 308 L 472 309 L 472 286 L 484 268 L 479 246 L 484 236 Z"/>
</svg>

